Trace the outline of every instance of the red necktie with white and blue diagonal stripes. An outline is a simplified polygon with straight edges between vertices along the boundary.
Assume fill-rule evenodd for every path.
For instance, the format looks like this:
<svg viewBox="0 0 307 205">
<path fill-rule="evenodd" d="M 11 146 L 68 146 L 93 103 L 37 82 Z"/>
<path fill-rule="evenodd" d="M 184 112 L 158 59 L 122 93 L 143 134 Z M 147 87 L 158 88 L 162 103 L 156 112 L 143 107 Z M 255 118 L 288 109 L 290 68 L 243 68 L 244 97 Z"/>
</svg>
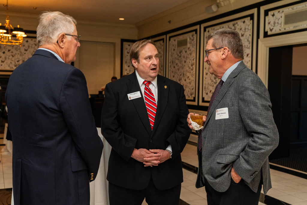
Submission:
<svg viewBox="0 0 307 205">
<path fill-rule="evenodd" d="M 150 81 L 144 81 L 143 84 L 145 85 L 144 88 L 144 98 L 145 98 L 145 105 L 147 109 L 147 114 L 151 126 L 151 130 L 153 129 L 154 118 L 156 117 L 157 112 L 157 103 L 156 99 L 154 98 L 153 92 L 149 88 Z"/>
</svg>

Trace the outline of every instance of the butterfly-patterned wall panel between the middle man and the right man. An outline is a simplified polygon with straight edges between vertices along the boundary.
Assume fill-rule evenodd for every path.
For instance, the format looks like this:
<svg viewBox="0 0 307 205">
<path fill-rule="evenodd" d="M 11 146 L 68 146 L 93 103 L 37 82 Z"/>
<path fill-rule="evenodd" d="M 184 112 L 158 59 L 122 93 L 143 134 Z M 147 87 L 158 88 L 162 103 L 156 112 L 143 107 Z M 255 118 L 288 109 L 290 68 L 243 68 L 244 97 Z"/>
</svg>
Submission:
<svg viewBox="0 0 307 205">
<path fill-rule="evenodd" d="M 168 34 L 168 77 L 183 85 L 187 104 L 197 104 L 199 26 Z"/>
</svg>

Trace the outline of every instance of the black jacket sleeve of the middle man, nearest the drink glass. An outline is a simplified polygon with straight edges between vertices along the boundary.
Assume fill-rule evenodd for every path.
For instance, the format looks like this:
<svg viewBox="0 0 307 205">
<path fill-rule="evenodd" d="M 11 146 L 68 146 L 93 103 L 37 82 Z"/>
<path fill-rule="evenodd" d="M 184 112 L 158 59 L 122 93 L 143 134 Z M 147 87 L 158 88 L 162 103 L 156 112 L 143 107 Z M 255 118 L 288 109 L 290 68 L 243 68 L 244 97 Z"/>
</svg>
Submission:
<svg viewBox="0 0 307 205">
<path fill-rule="evenodd" d="M 174 132 L 166 140 L 172 146 L 173 160 L 183 151 L 192 132 L 192 130 L 188 127 L 187 116 L 189 111 L 185 101 L 185 93 L 182 85 L 179 96 L 178 101 L 180 116 Z"/>
</svg>

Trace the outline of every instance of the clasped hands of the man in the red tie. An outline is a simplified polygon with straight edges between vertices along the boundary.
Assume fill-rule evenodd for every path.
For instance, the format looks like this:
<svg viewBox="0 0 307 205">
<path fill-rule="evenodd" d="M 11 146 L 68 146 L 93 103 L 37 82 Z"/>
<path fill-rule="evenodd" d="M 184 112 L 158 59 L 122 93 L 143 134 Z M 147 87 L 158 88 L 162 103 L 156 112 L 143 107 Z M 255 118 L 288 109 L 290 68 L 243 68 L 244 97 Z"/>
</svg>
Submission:
<svg viewBox="0 0 307 205">
<path fill-rule="evenodd" d="M 162 149 L 135 149 L 131 157 L 144 164 L 144 167 L 158 166 L 158 164 L 165 162 L 170 158 L 170 153 Z"/>
</svg>

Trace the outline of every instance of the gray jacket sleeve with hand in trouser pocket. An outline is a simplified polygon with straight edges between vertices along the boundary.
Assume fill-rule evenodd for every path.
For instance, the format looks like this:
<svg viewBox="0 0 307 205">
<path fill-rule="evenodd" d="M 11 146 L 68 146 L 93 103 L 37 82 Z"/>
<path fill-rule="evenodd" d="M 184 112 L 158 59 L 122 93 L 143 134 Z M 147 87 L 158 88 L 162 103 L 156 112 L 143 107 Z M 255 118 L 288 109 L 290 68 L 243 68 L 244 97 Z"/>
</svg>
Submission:
<svg viewBox="0 0 307 205">
<path fill-rule="evenodd" d="M 242 79 L 239 112 L 251 138 L 233 163 L 233 168 L 247 183 L 278 145 L 278 130 L 271 111 L 269 92 L 258 77 Z M 256 173 L 257 172 L 257 173 Z"/>
</svg>

